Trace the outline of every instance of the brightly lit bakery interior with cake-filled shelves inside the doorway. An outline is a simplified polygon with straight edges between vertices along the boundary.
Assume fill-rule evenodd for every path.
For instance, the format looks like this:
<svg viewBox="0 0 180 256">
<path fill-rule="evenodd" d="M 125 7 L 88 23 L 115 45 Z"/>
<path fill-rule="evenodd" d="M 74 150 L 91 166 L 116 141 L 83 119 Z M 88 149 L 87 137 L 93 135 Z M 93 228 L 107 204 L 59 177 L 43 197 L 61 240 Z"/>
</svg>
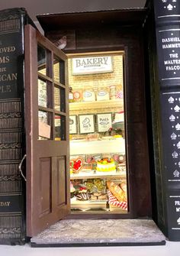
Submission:
<svg viewBox="0 0 180 256">
<path fill-rule="evenodd" d="M 72 212 L 127 212 L 124 52 L 69 56 Z"/>
</svg>

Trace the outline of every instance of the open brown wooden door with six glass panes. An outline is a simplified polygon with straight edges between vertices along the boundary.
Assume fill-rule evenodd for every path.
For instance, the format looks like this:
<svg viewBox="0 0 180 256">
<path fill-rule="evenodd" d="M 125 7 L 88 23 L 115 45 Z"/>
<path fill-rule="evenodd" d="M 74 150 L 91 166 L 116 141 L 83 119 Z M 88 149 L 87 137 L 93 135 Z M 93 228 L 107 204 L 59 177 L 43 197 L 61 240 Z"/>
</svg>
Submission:
<svg viewBox="0 0 180 256">
<path fill-rule="evenodd" d="M 31 25 L 25 27 L 27 236 L 69 213 L 67 58 Z"/>
</svg>

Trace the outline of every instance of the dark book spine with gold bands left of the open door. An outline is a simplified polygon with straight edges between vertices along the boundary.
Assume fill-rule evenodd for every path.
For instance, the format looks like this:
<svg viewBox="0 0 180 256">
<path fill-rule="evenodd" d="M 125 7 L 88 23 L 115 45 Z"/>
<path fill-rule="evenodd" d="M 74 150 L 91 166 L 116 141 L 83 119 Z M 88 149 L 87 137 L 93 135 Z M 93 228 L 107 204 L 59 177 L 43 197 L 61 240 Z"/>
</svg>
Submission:
<svg viewBox="0 0 180 256">
<path fill-rule="evenodd" d="M 22 8 L 0 11 L 0 244 L 25 242 L 24 17 Z"/>
</svg>

